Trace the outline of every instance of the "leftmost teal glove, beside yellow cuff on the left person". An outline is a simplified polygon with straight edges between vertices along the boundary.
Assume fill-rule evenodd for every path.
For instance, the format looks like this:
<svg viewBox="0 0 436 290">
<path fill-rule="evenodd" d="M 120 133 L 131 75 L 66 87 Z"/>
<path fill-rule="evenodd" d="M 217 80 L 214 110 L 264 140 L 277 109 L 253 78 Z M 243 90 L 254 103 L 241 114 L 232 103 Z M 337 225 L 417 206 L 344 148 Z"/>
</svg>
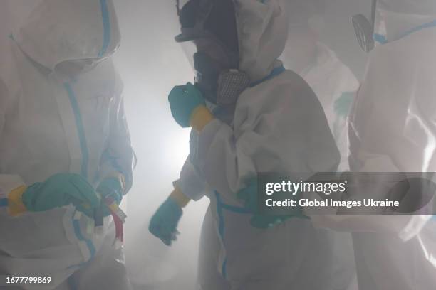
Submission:
<svg viewBox="0 0 436 290">
<path fill-rule="evenodd" d="M 94 188 L 82 176 L 58 173 L 44 182 L 33 183 L 23 193 L 22 200 L 28 211 L 40 212 L 60 208 L 72 203 L 83 203 L 95 208 L 100 204 Z"/>
</svg>

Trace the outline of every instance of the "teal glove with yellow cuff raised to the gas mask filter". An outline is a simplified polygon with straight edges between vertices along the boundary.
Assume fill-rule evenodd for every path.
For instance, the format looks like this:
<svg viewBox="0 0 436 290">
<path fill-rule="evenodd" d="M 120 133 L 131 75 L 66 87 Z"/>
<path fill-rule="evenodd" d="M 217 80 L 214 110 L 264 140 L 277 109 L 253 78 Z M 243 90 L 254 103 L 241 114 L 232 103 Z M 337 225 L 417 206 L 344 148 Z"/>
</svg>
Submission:
<svg viewBox="0 0 436 290">
<path fill-rule="evenodd" d="M 206 105 L 202 92 L 190 82 L 174 87 L 168 95 L 168 101 L 172 117 L 177 124 L 184 128 L 190 127 L 190 119 L 194 109 Z"/>
</svg>

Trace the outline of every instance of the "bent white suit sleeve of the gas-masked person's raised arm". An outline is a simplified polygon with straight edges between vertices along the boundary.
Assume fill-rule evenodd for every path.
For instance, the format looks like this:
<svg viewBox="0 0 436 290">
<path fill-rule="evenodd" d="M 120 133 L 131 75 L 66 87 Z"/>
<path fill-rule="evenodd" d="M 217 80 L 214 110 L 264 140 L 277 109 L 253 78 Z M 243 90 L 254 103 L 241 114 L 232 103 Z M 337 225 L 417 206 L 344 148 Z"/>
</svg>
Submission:
<svg viewBox="0 0 436 290">
<path fill-rule="evenodd" d="M 336 171 L 340 160 L 316 95 L 290 71 L 245 90 L 233 127 L 214 119 L 197 146 L 199 172 L 230 203 L 258 172 Z"/>
</svg>

